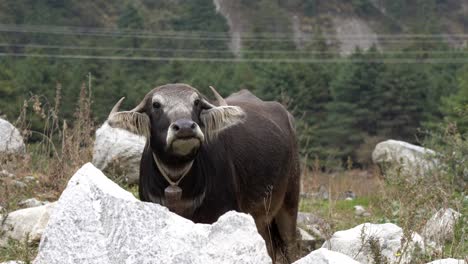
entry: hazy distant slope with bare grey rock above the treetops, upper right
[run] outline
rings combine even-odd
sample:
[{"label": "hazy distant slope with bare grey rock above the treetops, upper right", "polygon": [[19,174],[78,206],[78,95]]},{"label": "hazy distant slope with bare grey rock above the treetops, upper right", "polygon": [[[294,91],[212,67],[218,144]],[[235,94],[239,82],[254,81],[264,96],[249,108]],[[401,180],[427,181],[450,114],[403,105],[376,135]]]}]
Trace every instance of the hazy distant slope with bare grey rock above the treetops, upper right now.
[{"label": "hazy distant slope with bare grey rock above the treetops, upper right", "polygon": [[298,0],[284,4],[215,0],[214,3],[228,21],[231,47],[235,51],[240,50],[243,37],[248,38],[254,32],[289,37],[300,49],[314,38],[324,38],[344,54],[355,47],[368,49],[376,45],[384,50],[401,47],[428,34],[440,34],[438,37],[453,47],[466,45],[463,36],[453,36],[467,33],[468,3],[462,0],[410,3]]}]

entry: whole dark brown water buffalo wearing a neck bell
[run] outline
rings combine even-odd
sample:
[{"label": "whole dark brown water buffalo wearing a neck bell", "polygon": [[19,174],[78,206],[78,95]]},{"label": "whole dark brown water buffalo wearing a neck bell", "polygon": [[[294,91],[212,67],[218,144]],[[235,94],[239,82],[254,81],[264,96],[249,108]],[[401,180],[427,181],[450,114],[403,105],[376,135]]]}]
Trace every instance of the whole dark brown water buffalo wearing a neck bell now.
[{"label": "whole dark brown water buffalo wearing a neck bell", "polygon": [[210,102],[186,84],[151,90],[133,110],[112,109],[108,123],[145,135],[142,201],[197,223],[229,210],[249,213],[273,261],[291,262],[296,245],[299,159],[294,120],[277,102],[247,90]]}]

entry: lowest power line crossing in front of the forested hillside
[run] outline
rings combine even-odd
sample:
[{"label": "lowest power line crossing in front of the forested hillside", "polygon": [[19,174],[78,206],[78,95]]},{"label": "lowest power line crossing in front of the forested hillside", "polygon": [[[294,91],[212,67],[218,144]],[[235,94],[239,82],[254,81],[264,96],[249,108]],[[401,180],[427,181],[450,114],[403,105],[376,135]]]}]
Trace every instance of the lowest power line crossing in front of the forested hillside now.
[{"label": "lowest power line crossing in front of the forested hillside", "polygon": [[73,54],[39,54],[39,53],[0,53],[0,57],[35,57],[57,59],[86,59],[86,60],[124,60],[124,61],[189,61],[189,62],[222,62],[222,63],[392,63],[392,64],[466,64],[468,58],[379,58],[379,59],[343,59],[343,58],[193,58],[193,57],[148,57],[148,56],[96,56]]}]

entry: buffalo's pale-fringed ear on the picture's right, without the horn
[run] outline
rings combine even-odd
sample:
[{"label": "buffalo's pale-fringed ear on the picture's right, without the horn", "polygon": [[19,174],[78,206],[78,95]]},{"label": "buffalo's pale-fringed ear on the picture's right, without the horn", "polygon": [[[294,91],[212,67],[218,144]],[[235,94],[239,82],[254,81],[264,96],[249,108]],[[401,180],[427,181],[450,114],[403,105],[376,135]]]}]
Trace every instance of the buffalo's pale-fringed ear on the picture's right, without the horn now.
[{"label": "buffalo's pale-fringed ear on the picture's right, without the horn", "polygon": [[203,104],[204,110],[200,119],[205,126],[205,138],[214,140],[226,128],[244,122],[246,113],[239,106],[213,106],[208,102]]}]

